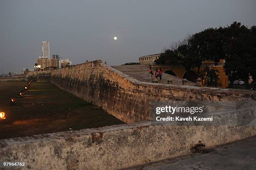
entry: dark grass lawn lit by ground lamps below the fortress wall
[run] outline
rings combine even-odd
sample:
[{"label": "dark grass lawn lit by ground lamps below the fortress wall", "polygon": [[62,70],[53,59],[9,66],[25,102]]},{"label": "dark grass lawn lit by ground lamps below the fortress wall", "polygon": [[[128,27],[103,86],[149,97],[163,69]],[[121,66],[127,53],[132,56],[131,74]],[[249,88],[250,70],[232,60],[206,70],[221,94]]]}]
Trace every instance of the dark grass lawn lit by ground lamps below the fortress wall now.
[{"label": "dark grass lawn lit by ground lamps below the fortress wall", "polygon": [[[50,82],[33,82],[23,97],[17,98],[27,83],[0,82],[0,111],[6,115],[0,122],[0,139],[124,123]],[[17,106],[10,106],[12,97]]]}]

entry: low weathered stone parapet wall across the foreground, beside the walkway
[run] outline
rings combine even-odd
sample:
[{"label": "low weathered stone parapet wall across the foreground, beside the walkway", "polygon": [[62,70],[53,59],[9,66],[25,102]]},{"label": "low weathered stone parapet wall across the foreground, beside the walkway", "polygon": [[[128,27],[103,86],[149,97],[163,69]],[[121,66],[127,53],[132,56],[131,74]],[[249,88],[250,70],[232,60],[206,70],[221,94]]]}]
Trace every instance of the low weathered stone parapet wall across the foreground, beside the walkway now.
[{"label": "low weathered stone parapet wall across the foreground, beside the walkway", "polygon": [[33,170],[114,170],[187,154],[256,135],[255,126],[172,126],[139,122],[0,140],[2,162]]}]

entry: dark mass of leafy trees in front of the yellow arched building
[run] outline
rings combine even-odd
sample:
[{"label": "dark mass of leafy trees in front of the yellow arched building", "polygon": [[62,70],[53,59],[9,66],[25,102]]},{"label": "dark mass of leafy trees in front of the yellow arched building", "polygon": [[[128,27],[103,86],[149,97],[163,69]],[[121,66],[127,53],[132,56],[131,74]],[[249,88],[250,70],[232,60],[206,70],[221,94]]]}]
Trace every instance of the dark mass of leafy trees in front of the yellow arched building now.
[{"label": "dark mass of leafy trees in front of the yellow arched building", "polygon": [[241,79],[249,89],[249,75],[256,79],[256,26],[248,29],[234,22],[227,27],[208,28],[165,48],[155,62],[181,64],[189,77],[192,68],[197,67],[197,74],[200,73],[203,61],[214,61],[218,65],[220,59],[225,59],[225,74],[231,87],[233,81]]}]

